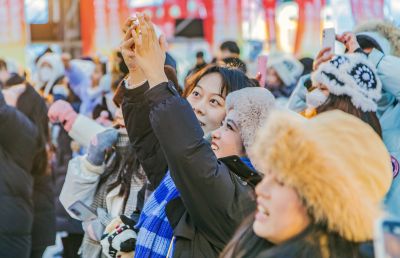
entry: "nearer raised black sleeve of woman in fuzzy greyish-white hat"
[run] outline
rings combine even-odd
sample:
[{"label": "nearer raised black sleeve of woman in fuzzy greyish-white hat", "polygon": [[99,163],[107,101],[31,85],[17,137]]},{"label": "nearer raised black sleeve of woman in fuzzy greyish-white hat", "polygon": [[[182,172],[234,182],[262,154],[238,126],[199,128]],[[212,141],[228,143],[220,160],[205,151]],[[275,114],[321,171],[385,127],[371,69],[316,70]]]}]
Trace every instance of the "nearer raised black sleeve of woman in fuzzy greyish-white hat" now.
[{"label": "nearer raised black sleeve of woman in fuzzy greyish-white hat", "polygon": [[152,88],[146,97],[152,128],[196,228],[224,238],[225,232],[232,230],[227,230],[234,224],[230,222],[238,218],[232,211],[237,190],[233,175],[217,160],[190,104],[171,82]]}]

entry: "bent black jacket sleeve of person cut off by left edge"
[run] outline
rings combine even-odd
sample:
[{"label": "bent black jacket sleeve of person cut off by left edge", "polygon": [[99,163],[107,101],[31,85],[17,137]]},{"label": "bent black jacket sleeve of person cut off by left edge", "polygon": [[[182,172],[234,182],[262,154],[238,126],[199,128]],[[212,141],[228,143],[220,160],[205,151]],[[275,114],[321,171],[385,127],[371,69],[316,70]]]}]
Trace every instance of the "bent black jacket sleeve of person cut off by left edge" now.
[{"label": "bent black jacket sleeve of person cut off by left edge", "polygon": [[0,146],[25,171],[32,169],[37,137],[36,126],[23,113],[7,105],[0,93]]}]

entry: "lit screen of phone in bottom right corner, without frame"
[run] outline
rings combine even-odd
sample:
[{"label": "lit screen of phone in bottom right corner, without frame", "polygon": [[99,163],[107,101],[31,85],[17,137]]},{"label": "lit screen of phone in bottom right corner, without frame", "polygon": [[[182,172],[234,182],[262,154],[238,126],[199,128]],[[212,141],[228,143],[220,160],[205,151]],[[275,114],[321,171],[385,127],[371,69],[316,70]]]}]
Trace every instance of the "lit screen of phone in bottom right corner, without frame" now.
[{"label": "lit screen of phone in bottom right corner, without frame", "polygon": [[384,221],[383,242],[386,258],[400,257],[400,222]]}]

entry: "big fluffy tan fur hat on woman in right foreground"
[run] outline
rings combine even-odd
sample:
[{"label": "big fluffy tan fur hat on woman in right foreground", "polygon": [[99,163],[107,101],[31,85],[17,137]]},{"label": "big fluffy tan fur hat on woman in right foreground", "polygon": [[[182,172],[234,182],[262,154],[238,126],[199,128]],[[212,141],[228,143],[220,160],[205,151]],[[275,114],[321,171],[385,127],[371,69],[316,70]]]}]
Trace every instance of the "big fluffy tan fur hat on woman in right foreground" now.
[{"label": "big fluffy tan fur hat on woman in right foreground", "polygon": [[370,126],[338,110],[310,120],[276,111],[259,131],[253,154],[263,171],[297,191],[314,223],[349,241],[372,239],[392,169]]}]

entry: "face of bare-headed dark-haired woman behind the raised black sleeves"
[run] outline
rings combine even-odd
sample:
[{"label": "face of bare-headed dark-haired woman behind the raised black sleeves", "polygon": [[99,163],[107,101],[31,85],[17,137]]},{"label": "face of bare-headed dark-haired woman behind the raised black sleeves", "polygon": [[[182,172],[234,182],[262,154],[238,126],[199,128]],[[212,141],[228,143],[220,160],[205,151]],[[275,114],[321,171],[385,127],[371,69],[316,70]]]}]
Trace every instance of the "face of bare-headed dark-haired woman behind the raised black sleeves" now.
[{"label": "face of bare-headed dark-haired woman behind the raised black sleeves", "polygon": [[204,75],[187,97],[205,134],[221,126],[225,117],[225,94],[219,73]]}]

